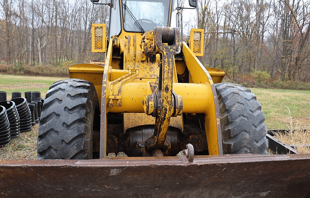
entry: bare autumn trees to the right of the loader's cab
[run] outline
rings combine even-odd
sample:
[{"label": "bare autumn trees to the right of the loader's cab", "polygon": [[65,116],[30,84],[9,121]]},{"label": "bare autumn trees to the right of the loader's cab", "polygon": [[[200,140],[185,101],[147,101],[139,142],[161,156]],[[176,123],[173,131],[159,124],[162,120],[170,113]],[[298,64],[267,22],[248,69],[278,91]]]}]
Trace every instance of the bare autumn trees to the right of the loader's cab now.
[{"label": "bare autumn trees to the right of the loader's cab", "polygon": [[310,81],[309,0],[200,0],[202,62],[238,74],[265,71],[280,80]]}]

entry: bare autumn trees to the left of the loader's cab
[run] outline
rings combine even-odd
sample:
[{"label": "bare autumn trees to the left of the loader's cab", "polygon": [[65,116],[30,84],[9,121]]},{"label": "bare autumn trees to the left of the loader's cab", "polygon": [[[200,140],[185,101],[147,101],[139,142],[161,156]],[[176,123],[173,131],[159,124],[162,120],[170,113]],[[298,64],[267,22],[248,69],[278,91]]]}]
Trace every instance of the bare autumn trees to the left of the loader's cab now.
[{"label": "bare autumn trees to the left of the loader's cab", "polygon": [[92,23],[107,22],[108,14],[108,6],[93,6],[90,0],[1,0],[0,61],[89,61]]}]

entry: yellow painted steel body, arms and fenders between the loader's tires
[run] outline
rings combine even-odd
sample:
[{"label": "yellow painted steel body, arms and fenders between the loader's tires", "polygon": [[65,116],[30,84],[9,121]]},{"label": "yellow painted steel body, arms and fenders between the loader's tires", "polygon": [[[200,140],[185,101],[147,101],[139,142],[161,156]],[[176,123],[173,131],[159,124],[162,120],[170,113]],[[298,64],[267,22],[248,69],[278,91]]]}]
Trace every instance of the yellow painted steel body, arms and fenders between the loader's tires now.
[{"label": "yellow painted steel body, arms and fenders between the loader's tires", "polygon": [[[119,35],[109,40],[109,47],[106,53],[104,66],[99,64],[77,64],[69,68],[71,78],[81,78],[93,82],[95,85],[99,102],[101,103],[101,129],[100,141],[100,158],[105,158],[107,151],[107,114],[124,113],[124,122],[135,122],[135,126],[143,125],[143,123],[151,124],[154,119],[149,119],[150,112],[155,111],[155,104],[150,100],[146,106],[145,100],[147,96],[157,93],[158,76],[160,73],[160,64],[162,64],[159,54],[154,54],[151,58],[146,52],[158,52],[154,49],[155,37],[153,31],[147,31],[143,35],[140,33],[123,32],[124,37]],[[141,42],[142,41],[142,42]],[[119,48],[122,57],[113,57],[113,48]],[[175,50],[175,49],[173,49]],[[190,48],[182,44],[183,58],[181,60],[172,59],[172,71],[170,76],[174,94],[176,94],[180,102],[182,101],[183,113],[200,113],[205,114],[205,129],[208,142],[208,150],[210,154],[222,154],[219,114],[217,107],[217,96],[214,88],[214,81],[220,82],[225,75],[223,70],[208,69],[208,72],[198,61]],[[165,58],[165,53],[162,52]],[[164,68],[168,65],[163,65]],[[121,69],[122,68],[122,69]],[[183,75],[189,72],[190,83],[178,83],[177,75]],[[168,70],[167,70],[168,71]],[[211,75],[210,75],[211,74]],[[164,77],[165,80],[165,77]],[[166,90],[161,90],[166,91]],[[172,98],[168,99],[172,101]],[[172,104],[168,103],[168,106]],[[169,107],[170,108],[170,107]],[[171,110],[170,110],[171,111]],[[128,114],[127,114],[128,113]],[[143,114],[144,121],[141,119],[132,119],[135,113]],[[142,114],[141,114],[142,115]],[[174,115],[176,116],[176,115]],[[171,112],[168,117],[171,117]],[[179,128],[183,131],[183,117],[178,116],[171,119],[168,124]],[[154,124],[154,123],[153,123]],[[164,127],[168,128],[168,125]],[[128,125],[128,124],[127,124]],[[126,126],[126,125],[124,125]],[[130,127],[129,124],[127,127]],[[161,138],[161,137],[160,137]],[[165,137],[164,137],[165,138]],[[159,139],[162,143],[164,138]]]}]

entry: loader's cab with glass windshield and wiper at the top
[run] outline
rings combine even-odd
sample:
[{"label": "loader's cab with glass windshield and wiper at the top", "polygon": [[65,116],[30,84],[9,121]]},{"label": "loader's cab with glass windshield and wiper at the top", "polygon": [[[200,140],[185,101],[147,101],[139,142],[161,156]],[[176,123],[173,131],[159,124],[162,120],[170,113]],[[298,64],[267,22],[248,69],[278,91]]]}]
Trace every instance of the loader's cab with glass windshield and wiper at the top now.
[{"label": "loader's cab with glass windshield and wiper at the top", "polygon": [[[99,0],[91,0],[94,4]],[[173,10],[181,9],[174,0],[111,0],[109,37],[128,32],[141,33],[154,30],[155,27],[170,27]],[[189,0],[191,7],[196,7],[196,0]],[[182,8],[184,9],[184,8]],[[180,12],[177,12],[179,15]],[[177,23],[179,24],[179,23]]]}]

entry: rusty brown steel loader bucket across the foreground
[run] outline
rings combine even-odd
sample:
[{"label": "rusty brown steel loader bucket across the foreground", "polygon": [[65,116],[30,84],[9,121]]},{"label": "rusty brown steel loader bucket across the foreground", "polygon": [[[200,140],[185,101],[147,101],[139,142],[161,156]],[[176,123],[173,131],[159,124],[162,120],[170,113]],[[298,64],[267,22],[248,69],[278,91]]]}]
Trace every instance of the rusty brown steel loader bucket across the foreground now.
[{"label": "rusty brown steel loader bucket across the foreground", "polygon": [[1,160],[1,197],[310,197],[310,154]]}]

